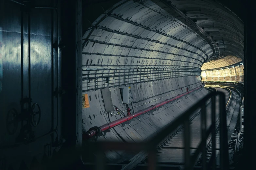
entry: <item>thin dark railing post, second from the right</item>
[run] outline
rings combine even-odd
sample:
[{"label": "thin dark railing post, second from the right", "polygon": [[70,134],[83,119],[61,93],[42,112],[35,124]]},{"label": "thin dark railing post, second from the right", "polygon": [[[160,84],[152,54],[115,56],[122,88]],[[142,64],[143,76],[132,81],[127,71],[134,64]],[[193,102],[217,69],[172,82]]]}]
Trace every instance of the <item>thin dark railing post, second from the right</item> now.
[{"label": "thin dark railing post, second from the right", "polygon": [[216,169],[216,136],[215,136],[215,95],[212,96],[212,168]]}]

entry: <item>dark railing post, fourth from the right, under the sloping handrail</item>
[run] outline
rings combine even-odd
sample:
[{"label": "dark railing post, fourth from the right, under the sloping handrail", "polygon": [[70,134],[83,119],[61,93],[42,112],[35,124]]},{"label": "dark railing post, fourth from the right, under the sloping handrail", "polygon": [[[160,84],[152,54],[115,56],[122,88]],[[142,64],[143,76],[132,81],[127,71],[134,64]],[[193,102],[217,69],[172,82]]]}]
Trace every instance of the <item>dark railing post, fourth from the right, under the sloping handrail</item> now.
[{"label": "dark railing post, fourth from the right, under the sloping handrail", "polygon": [[189,117],[186,117],[184,120],[184,157],[185,157],[185,169],[188,170],[190,168],[190,130],[189,130]]}]

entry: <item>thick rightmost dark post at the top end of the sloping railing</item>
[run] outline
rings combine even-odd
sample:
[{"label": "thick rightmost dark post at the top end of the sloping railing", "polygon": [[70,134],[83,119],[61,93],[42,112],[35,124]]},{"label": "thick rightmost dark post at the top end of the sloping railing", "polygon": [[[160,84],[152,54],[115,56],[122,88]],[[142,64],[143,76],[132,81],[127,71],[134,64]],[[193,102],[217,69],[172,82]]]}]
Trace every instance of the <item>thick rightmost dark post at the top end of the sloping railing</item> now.
[{"label": "thick rightmost dark post at the top end of the sloping railing", "polygon": [[220,94],[220,168],[229,169],[228,134],[226,121],[225,95]]}]

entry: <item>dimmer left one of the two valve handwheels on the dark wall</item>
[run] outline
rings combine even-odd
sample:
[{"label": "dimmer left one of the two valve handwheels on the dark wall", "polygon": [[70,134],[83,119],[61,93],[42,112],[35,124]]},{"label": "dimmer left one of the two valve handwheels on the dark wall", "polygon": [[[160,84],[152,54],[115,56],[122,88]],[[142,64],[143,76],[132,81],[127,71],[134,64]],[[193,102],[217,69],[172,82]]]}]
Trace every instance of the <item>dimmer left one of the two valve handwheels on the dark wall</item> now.
[{"label": "dimmer left one of the two valve handwheels on the dark wall", "polygon": [[18,128],[18,121],[17,121],[17,110],[12,108],[9,110],[6,118],[6,128],[9,133],[9,135],[15,134],[17,128]]}]

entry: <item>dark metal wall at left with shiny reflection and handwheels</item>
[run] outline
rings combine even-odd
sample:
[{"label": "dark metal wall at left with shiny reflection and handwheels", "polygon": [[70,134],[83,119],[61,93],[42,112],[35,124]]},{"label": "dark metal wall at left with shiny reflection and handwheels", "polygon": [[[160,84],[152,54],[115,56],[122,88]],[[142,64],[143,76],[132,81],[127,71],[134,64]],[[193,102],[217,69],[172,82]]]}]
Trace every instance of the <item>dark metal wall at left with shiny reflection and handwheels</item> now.
[{"label": "dark metal wall at left with shiny reflection and handwheels", "polygon": [[[22,1],[20,1],[22,2]],[[26,2],[24,2],[26,3]],[[51,157],[60,139],[60,55],[56,1],[0,1],[0,169],[26,169]],[[32,100],[32,101],[31,101]],[[34,124],[27,121],[34,111]],[[29,112],[30,111],[30,112]]]}]

